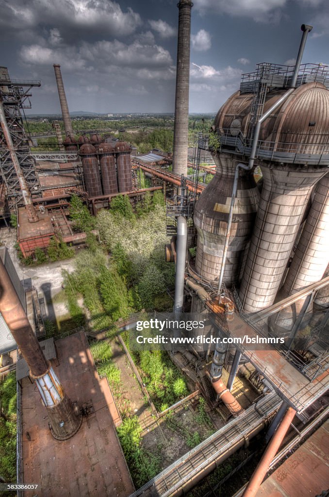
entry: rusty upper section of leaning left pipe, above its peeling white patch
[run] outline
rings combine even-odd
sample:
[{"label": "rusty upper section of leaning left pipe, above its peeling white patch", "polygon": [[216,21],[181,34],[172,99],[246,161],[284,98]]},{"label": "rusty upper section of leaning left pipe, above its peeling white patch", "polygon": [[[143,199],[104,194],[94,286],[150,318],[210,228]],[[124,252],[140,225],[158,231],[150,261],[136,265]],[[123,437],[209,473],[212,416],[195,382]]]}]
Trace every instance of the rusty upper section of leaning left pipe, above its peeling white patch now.
[{"label": "rusty upper section of leaning left pipe, above its peeling white patch", "polygon": [[0,313],[31,373],[36,377],[45,374],[48,370],[47,361],[1,259]]}]

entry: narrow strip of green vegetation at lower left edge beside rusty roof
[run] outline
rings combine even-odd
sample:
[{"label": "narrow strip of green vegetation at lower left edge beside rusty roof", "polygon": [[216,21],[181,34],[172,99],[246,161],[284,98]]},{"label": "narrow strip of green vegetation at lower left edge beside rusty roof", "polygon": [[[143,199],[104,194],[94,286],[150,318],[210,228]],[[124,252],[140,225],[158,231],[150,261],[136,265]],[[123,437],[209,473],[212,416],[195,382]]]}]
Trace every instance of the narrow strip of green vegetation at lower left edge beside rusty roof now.
[{"label": "narrow strip of green vegetation at lower left edge beside rusty roof", "polygon": [[16,482],[16,377],[9,373],[0,381],[0,475]]}]

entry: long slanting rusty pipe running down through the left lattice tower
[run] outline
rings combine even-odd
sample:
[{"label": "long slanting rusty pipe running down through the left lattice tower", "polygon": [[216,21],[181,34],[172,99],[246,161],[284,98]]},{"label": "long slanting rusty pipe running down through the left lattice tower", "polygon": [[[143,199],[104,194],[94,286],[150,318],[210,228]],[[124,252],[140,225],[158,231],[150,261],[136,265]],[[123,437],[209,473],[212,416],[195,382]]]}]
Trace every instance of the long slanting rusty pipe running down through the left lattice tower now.
[{"label": "long slanting rusty pipe running down through the left lattice tower", "polygon": [[18,158],[17,158],[16,152],[14,149],[14,144],[12,142],[10,131],[8,128],[8,124],[7,124],[7,121],[5,118],[3,102],[1,99],[0,99],[0,124],[1,124],[4,139],[6,141],[7,148],[9,150],[11,162],[12,162],[12,165],[14,166],[15,173],[16,173],[16,176],[17,176],[17,179],[19,182],[19,186],[20,186],[20,189],[22,192],[23,201],[24,201],[24,205],[26,208],[26,212],[27,212],[27,220],[29,223],[36,223],[37,221],[39,221],[39,218],[38,218],[37,212],[32,204],[31,194],[30,194],[30,191],[28,189],[27,183],[25,181],[25,177],[23,175],[20,164],[18,162]]}]

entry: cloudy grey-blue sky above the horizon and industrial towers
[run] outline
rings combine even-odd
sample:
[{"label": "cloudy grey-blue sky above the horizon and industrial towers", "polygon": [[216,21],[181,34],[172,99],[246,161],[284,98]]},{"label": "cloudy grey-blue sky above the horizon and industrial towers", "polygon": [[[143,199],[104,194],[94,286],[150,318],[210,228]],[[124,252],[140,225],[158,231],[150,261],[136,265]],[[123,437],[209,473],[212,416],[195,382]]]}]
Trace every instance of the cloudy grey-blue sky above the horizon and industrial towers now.
[{"label": "cloudy grey-blue sky above the horizon and industrial towers", "polygon": [[[40,79],[32,113],[173,112],[178,0],[0,0],[0,65]],[[194,0],[190,112],[216,112],[258,62],[329,63],[328,0]]]}]

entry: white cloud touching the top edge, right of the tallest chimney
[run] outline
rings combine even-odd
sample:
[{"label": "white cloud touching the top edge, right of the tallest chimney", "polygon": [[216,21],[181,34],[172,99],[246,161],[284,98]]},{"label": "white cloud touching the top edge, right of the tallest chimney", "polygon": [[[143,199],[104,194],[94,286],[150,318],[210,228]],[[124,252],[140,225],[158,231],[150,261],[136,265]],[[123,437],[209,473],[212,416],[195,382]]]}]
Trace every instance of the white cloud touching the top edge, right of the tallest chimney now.
[{"label": "white cloud touching the top edge, right of the tallest chimney", "polygon": [[277,21],[287,0],[195,0],[195,8],[201,13],[217,12],[242,17],[251,17],[255,21]]}]

